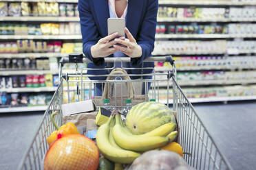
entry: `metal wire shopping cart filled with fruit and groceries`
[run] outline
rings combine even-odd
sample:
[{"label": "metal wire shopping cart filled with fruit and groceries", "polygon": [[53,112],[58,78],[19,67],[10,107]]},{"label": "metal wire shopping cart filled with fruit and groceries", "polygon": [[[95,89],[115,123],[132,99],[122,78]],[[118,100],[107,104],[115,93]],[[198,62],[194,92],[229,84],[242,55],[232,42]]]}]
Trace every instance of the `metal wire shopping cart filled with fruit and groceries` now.
[{"label": "metal wire shopping cart filled with fruit and groceries", "polygon": [[[176,118],[179,126],[178,141],[183,148],[184,159],[195,169],[232,169],[226,158],[218,149],[213,141],[212,136],[206,130],[204,123],[198,117],[193,106],[186,98],[182,89],[176,82],[176,68],[174,60],[171,56],[167,57],[150,57],[144,62],[169,62],[172,69],[168,71],[156,71],[158,67],[154,68],[153,73],[142,75],[129,76],[151,76],[149,79],[134,79],[134,80],[89,80],[88,77],[97,75],[87,75],[89,69],[78,69],[78,63],[89,63],[87,58],[83,55],[72,54],[69,58],[62,58],[59,66],[60,82],[50,105],[47,107],[43,119],[41,120],[36,134],[30,144],[30,147],[25,152],[19,169],[43,169],[43,159],[49,146],[47,145],[47,136],[49,136],[55,129],[50,121],[50,114],[55,110],[59,110],[55,119],[58,125],[62,124],[61,105],[63,103],[70,103],[74,101],[83,101],[85,99],[92,99],[96,91],[94,84],[111,83],[113,90],[116,92],[116,84],[124,84],[125,82],[132,82],[144,84],[145,87],[151,83],[151,88],[145,90],[145,101],[149,99],[156,99],[156,101],[163,102],[167,106],[171,106],[176,111]],[[120,62],[121,66],[125,62],[130,62],[129,58],[105,58],[106,63]],[[76,71],[74,73],[65,73],[63,66],[66,63],[74,63]],[[107,68],[105,68],[107,69]],[[111,70],[113,68],[110,68]],[[124,68],[126,69],[126,68]],[[131,68],[136,69],[136,68]],[[145,68],[153,69],[153,68]],[[97,71],[100,69],[97,69]],[[101,75],[103,76],[103,75]],[[104,75],[107,77],[107,75]],[[116,75],[118,77],[118,75]],[[71,86],[72,85],[72,86]],[[162,88],[164,87],[164,88]],[[125,88],[124,88],[125,89]],[[122,90],[121,90],[122,91]],[[74,94],[75,92],[75,94]],[[73,93],[73,94],[72,94]],[[63,97],[64,96],[64,97]],[[116,103],[115,103],[116,104]],[[115,105],[114,104],[114,105]],[[116,105],[117,106],[117,105]],[[117,107],[122,107],[118,105]]]}]

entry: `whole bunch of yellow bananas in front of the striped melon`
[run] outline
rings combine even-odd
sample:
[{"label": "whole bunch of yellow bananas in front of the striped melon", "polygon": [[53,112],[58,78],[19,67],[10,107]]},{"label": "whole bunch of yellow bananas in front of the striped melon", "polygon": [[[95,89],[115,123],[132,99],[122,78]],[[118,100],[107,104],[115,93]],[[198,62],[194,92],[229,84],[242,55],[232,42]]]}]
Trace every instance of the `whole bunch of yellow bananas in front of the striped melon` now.
[{"label": "whole bunch of yellow bananas in front of the striped melon", "polygon": [[111,116],[98,128],[96,143],[100,152],[109,160],[128,164],[140,153],[160,148],[172,142],[178,135],[175,123],[166,123],[146,134],[135,135],[122,122],[120,114]]}]

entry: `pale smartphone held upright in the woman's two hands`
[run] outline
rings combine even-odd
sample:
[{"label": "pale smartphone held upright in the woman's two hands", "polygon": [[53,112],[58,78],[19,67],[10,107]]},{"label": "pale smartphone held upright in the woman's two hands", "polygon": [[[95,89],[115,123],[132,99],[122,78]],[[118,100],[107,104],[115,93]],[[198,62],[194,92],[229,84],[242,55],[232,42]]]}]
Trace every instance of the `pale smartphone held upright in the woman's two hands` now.
[{"label": "pale smartphone held upright in the woman's two hands", "polygon": [[125,36],[125,19],[109,18],[107,19],[108,35],[118,32],[118,37]]}]

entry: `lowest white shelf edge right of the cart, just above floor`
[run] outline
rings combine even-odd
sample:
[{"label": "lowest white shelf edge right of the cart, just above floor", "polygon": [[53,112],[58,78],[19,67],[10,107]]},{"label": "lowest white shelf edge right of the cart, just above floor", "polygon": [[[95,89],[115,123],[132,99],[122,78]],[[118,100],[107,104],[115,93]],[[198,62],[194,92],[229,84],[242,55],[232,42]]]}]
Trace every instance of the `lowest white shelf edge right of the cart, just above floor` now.
[{"label": "lowest white shelf edge right of the cart, just above floor", "polygon": [[[191,103],[206,103],[218,101],[244,101],[256,100],[256,96],[238,96],[238,97],[208,97],[208,98],[189,98]],[[167,100],[159,100],[162,104],[167,104]],[[169,104],[173,104],[173,99],[169,99]]]}]

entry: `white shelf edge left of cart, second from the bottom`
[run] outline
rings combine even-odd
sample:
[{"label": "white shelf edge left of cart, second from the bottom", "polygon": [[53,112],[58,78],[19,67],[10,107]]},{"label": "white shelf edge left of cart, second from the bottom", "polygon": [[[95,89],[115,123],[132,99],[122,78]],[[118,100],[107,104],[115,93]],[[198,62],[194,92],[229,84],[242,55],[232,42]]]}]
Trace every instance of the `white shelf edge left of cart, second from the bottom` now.
[{"label": "white shelf edge left of cart, second from the bottom", "polygon": [[39,87],[39,88],[1,88],[0,91],[6,93],[25,93],[25,92],[51,92],[55,91],[56,87]]}]

